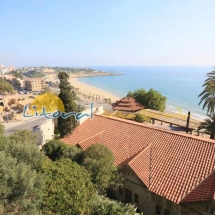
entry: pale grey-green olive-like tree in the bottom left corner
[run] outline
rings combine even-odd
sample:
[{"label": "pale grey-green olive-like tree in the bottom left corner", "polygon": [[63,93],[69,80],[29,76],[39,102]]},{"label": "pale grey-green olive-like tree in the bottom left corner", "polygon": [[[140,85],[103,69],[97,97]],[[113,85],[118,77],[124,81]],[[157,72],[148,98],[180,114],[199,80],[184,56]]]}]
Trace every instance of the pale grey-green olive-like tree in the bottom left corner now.
[{"label": "pale grey-green olive-like tree in the bottom left corner", "polygon": [[0,214],[41,214],[44,158],[36,145],[0,135]]}]

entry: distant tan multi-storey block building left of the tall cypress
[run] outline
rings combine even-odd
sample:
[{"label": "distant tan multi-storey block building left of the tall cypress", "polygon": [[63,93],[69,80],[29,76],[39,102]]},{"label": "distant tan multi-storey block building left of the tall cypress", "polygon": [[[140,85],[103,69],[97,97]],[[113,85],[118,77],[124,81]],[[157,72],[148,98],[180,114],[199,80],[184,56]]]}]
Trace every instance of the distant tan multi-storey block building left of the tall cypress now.
[{"label": "distant tan multi-storey block building left of the tall cypress", "polygon": [[41,78],[27,78],[24,81],[27,91],[41,91],[45,87],[45,81]]}]

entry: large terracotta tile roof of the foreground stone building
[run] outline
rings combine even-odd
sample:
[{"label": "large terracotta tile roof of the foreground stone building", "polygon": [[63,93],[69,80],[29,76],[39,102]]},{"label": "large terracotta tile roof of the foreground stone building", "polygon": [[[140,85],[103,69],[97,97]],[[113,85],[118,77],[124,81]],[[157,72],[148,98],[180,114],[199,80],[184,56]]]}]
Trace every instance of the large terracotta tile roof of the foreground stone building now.
[{"label": "large terracotta tile roof of the foreground stone building", "polygon": [[127,164],[150,191],[175,203],[214,197],[214,140],[94,115],[62,141],[83,149],[100,141],[116,165]]}]

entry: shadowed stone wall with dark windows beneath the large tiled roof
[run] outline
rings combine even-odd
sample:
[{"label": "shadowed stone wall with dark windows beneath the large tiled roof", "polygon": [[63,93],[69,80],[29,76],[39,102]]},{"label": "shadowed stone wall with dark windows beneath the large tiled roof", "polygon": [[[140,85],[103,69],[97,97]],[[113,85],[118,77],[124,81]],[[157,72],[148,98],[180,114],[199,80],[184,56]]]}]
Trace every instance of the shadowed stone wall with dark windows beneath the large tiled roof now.
[{"label": "shadowed stone wall with dark windows beneath the large tiled roof", "polygon": [[115,192],[116,198],[126,203],[126,193],[131,191],[131,203],[144,215],[215,215],[212,202],[178,205],[148,191],[144,183],[129,167],[123,168],[122,173],[125,179],[123,189]]}]

